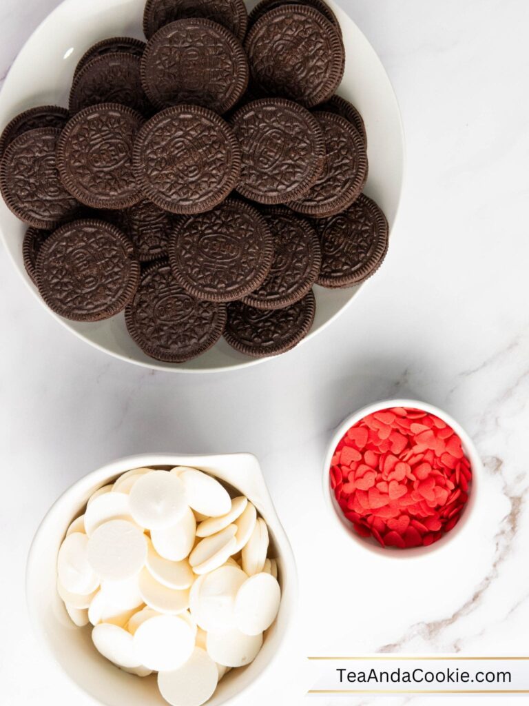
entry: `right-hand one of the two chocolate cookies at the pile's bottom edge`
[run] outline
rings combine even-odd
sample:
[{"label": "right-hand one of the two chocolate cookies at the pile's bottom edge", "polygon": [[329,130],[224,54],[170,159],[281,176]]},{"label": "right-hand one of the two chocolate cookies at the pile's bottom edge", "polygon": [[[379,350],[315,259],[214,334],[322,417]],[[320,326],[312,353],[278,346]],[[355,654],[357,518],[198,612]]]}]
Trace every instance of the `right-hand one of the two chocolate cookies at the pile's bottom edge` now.
[{"label": "right-hand one of the two chocolate cookies at the pile's bottom edge", "polygon": [[255,358],[279,355],[298,345],[310,331],[316,313],[314,294],[309,292],[286,309],[262,311],[234,301],[228,304],[226,342]]}]

